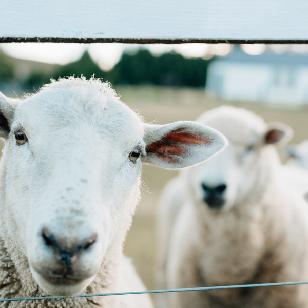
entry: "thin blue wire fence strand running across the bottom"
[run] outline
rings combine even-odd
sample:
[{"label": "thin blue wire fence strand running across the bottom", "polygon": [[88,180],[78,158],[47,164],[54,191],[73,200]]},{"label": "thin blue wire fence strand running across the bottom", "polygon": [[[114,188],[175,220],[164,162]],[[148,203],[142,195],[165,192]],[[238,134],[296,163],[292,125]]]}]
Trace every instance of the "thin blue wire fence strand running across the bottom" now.
[{"label": "thin blue wire fence strand running across the bottom", "polygon": [[4,298],[4,299],[0,299],[0,302],[25,301],[25,300],[43,300],[43,299],[60,299],[60,298],[75,298],[75,297],[95,297],[95,296],[114,296],[114,295],[132,295],[132,294],[207,291],[207,290],[222,290],[222,289],[244,288],[244,287],[282,286],[282,285],[298,285],[298,284],[308,284],[308,281],[187,287],[187,288],[177,288],[177,289],[149,290],[149,291],[136,291],[136,292],[80,294],[80,295],[74,295],[74,296],[40,296],[40,297],[23,297],[23,298]]}]

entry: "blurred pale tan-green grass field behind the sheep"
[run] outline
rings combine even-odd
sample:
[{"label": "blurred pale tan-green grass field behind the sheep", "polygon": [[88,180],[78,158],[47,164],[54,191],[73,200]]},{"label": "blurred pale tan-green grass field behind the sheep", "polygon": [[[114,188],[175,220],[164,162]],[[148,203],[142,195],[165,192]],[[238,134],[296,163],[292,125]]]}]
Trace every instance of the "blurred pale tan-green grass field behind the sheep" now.
[{"label": "blurred pale tan-green grass field behind the sheep", "polygon": [[[119,87],[121,100],[132,109],[140,111],[145,121],[165,124],[178,120],[195,120],[204,111],[226,102],[207,97],[204,90],[159,87]],[[228,103],[230,104],[230,103]],[[257,103],[233,102],[233,106],[243,107],[261,115],[265,121],[284,122],[295,131],[293,142],[308,138],[308,108],[295,109]],[[156,210],[161,189],[177,174],[176,171],[144,166],[143,181],[147,191],[143,191],[141,202],[128,233],[124,252],[131,256],[140,276],[148,289],[156,288],[153,281],[156,255]]]}]

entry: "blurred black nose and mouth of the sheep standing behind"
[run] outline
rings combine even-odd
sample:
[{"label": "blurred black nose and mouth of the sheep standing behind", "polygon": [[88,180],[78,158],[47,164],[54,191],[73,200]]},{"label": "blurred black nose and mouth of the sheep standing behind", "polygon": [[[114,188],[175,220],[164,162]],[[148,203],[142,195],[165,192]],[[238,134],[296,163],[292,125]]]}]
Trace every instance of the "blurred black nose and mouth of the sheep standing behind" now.
[{"label": "blurred black nose and mouth of the sheep standing behind", "polygon": [[222,183],[217,186],[209,186],[205,183],[201,184],[203,189],[203,200],[211,208],[221,208],[224,203],[224,192],[227,185]]}]

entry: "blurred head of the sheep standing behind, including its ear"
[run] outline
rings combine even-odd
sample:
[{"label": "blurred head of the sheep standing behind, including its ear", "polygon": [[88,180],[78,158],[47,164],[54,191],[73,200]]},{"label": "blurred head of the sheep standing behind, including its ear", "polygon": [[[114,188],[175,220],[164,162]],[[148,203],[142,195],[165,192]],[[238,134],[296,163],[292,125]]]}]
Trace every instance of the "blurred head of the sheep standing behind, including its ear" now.
[{"label": "blurred head of the sheep standing behind, including its ear", "polygon": [[273,144],[290,140],[292,130],[281,123],[266,125],[247,110],[220,107],[197,121],[215,127],[229,145],[210,161],[186,172],[194,203],[217,211],[229,210],[258,193],[278,158]]}]

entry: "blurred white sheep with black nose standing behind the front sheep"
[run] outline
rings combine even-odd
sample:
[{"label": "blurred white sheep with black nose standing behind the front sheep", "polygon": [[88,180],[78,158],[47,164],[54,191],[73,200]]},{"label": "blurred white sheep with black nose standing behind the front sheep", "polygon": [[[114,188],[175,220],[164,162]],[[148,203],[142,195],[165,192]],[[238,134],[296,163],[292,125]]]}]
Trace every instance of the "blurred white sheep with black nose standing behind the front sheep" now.
[{"label": "blurred white sheep with black nose standing behind the front sheep", "polygon": [[[280,176],[273,146],[287,142],[291,128],[267,125],[248,110],[228,106],[205,112],[197,121],[222,132],[229,146],[208,162],[183,170],[162,194],[162,287],[307,280],[308,207]],[[176,218],[170,219],[174,213]],[[302,308],[308,307],[307,290],[177,292],[167,295],[167,307]]]}]

